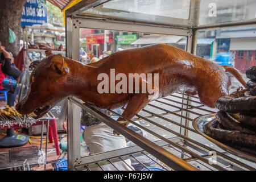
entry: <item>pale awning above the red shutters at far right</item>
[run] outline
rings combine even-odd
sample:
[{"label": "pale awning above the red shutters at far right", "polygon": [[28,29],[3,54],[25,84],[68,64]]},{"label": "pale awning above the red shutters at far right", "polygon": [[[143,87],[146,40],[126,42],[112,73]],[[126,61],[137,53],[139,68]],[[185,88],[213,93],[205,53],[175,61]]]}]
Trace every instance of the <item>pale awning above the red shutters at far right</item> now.
[{"label": "pale awning above the red shutters at far right", "polygon": [[254,51],[256,50],[256,38],[232,38],[230,39],[231,51],[244,50],[244,51]]}]

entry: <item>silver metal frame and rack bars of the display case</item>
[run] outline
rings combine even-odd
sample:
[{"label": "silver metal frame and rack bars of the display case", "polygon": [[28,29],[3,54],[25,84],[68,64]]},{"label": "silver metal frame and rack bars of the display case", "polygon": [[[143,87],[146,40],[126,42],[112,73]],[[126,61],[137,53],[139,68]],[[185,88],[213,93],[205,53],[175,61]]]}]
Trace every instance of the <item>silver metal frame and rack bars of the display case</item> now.
[{"label": "silver metal frame and rack bars of the display case", "polygon": [[[191,6],[189,11],[189,19],[183,20],[178,18],[171,18],[172,24],[154,24],[138,21],[129,21],[123,19],[117,19],[113,17],[100,17],[100,16],[85,16],[82,11],[102,5],[102,3],[108,2],[106,0],[92,0],[81,1],[77,5],[71,7],[66,11],[66,55],[72,59],[79,60],[79,31],[80,28],[94,28],[101,30],[116,30],[127,32],[147,32],[152,34],[165,34],[165,35],[179,35],[187,37],[186,51],[196,52],[196,35],[198,30],[212,30],[220,27],[232,27],[232,26],[246,26],[250,24],[256,24],[256,19],[244,22],[222,23],[222,24],[210,24],[207,26],[197,27],[196,24],[199,20],[199,11],[196,11],[200,7],[200,0],[191,0]],[[177,101],[180,100],[180,101]],[[189,137],[190,133],[196,133],[193,129],[191,122],[195,115],[200,116],[203,114],[214,113],[213,110],[205,109],[204,105],[201,105],[197,97],[187,96],[183,93],[175,93],[166,98],[153,101],[154,103],[160,103],[163,107],[159,107],[155,104],[148,104],[148,106],[155,107],[162,110],[163,113],[152,113],[145,108],[142,110],[148,114],[147,117],[143,117],[137,114],[137,119],[143,119],[143,121],[150,122],[151,124],[162,128],[172,134],[175,137],[164,138],[154,131],[147,129],[134,122],[136,119],[129,120],[130,123],[140,127],[148,133],[155,135],[160,140],[158,142],[151,142],[150,140],[142,137],[134,131],[127,129],[120,123],[117,123],[112,118],[108,117],[95,109],[94,107],[77,100],[76,98],[68,98],[68,168],[69,170],[90,170],[92,167],[100,167],[104,164],[112,164],[114,162],[124,161],[126,158],[133,158],[137,162],[141,163],[134,155],[146,155],[153,161],[159,163],[159,160],[166,164],[168,169],[174,170],[196,170],[194,163],[204,169],[210,170],[255,170],[254,163],[247,163],[245,160],[237,159],[236,156],[230,155],[226,151],[220,151],[209,147],[200,141],[194,140]],[[101,154],[94,154],[85,157],[80,155],[80,109],[85,109],[95,117],[101,119],[106,125],[112,127],[115,131],[122,134],[127,139],[131,140],[137,146],[127,147],[125,149],[104,152]],[[171,107],[172,109],[165,109]],[[174,110],[174,111],[172,111]],[[195,111],[196,110],[196,111]],[[113,112],[113,111],[112,111]],[[114,112],[113,112],[114,113]],[[118,115],[117,113],[114,113]],[[171,114],[179,117],[180,122],[167,119],[164,115]],[[194,115],[194,117],[193,117]],[[121,115],[119,115],[122,117]],[[176,126],[180,127],[180,131],[174,131],[162,126],[151,118],[164,119]],[[170,151],[171,150],[171,151]],[[217,164],[209,163],[209,154],[216,154]],[[148,154],[153,155],[155,159],[152,159]],[[192,165],[193,163],[193,165]],[[128,165],[128,164],[127,164]],[[159,163],[162,165],[162,163]],[[118,169],[117,167],[115,167]],[[145,168],[147,168],[145,166]],[[165,169],[167,169],[165,168]],[[148,168],[147,168],[148,169]]]}]

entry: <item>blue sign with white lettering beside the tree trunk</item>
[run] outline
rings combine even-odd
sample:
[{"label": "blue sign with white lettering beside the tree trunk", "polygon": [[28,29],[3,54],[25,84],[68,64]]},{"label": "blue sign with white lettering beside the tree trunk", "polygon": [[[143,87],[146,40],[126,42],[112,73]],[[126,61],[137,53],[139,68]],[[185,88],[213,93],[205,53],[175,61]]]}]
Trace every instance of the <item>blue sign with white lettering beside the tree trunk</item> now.
[{"label": "blue sign with white lettering beside the tree trunk", "polygon": [[22,11],[22,28],[47,23],[46,0],[27,0]]}]

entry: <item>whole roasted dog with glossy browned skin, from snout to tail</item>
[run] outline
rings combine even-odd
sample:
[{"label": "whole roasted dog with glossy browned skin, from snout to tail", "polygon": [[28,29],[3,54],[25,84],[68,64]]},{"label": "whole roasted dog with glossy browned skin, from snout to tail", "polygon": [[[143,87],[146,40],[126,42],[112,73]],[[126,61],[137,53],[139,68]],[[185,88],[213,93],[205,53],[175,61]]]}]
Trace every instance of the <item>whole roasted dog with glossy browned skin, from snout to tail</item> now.
[{"label": "whole roasted dog with glossy browned skin, from snout to tail", "polygon": [[[58,101],[75,96],[101,109],[115,109],[127,104],[123,116],[131,119],[148,104],[149,94],[98,93],[97,85],[102,80],[97,80],[97,76],[106,73],[110,77],[110,69],[115,69],[115,75],[124,73],[127,78],[129,73],[158,73],[159,86],[152,85],[159,90],[155,99],[179,90],[187,94],[197,93],[200,101],[209,107],[215,107],[218,98],[229,93],[231,82],[226,71],[236,75],[243,86],[246,84],[236,69],[224,68],[166,44],[115,52],[86,65],[67,57],[49,55],[31,73],[29,93],[16,109],[22,114],[31,113],[43,105],[51,109]],[[39,112],[37,118],[45,111]]]}]

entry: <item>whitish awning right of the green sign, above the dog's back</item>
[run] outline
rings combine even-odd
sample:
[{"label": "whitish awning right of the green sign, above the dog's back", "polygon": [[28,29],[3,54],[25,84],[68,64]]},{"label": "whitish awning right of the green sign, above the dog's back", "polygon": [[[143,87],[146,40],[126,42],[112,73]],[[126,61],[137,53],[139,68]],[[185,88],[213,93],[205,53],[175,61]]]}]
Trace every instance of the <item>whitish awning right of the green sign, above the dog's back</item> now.
[{"label": "whitish awning right of the green sign, above the dog's back", "polygon": [[183,39],[183,36],[144,36],[142,38],[139,38],[138,40],[135,40],[131,44],[173,44],[179,42],[181,39]]}]

